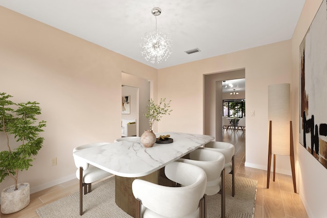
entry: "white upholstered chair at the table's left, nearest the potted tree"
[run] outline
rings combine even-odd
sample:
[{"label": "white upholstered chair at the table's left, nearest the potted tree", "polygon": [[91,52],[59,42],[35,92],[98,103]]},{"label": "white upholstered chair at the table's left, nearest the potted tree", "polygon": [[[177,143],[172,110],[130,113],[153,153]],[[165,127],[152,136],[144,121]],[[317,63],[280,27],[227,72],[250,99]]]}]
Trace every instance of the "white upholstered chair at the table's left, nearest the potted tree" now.
[{"label": "white upholstered chair at the table's left, nearest the potted tree", "polygon": [[[108,144],[108,142],[84,144],[83,146],[74,148],[73,153],[82,149],[101,146],[103,144]],[[83,214],[83,187],[84,187],[84,195],[86,195],[88,192],[92,191],[91,183],[104,179],[112,174],[103,171],[102,169],[95,167],[91,164],[88,164],[82,159],[75,156],[74,156],[74,161],[76,167],[78,168],[76,171],[76,177],[80,180],[80,215],[82,215]],[[83,171],[80,171],[81,167],[83,168]]]}]

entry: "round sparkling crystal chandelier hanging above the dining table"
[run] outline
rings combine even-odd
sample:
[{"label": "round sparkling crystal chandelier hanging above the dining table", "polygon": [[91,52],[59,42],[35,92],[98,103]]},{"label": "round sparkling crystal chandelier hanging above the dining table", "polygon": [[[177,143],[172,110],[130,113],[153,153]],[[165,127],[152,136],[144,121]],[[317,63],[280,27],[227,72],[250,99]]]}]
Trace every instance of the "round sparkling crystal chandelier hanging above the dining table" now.
[{"label": "round sparkling crystal chandelier hanging above the dining table", "polygon": [[162,60],[166,61],[172,54],[170,51],[171,39],[166,34],[157,32],[157,16],[161,14],[161,9],[152,8],[151,13],[155,16],[155,31],[142,38],[143,43],[140,45],[144,51],[141,54],[151,63],[155,61],[160,63]]}]

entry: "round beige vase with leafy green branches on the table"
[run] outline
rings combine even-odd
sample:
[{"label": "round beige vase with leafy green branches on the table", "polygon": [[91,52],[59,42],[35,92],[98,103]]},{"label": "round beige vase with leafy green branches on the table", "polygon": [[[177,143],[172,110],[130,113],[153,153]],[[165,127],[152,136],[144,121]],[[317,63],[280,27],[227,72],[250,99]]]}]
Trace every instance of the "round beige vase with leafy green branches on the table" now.
[{"label": "round beige vase with leafy green branches on the table", "polygon": [[145,130],[141,135],[141,142],[147,148],[152,147],[156,141],[156,136],[153,133],[153,124],[155,121],[160,121],[162,115],[170,114],[173,110],[170,109],[170,102],[166,102],[165,99],[160,99],[159,104],[155,104],[152,99],[148,100],[147,113],[145,117],[149,119],[149,130]]}]

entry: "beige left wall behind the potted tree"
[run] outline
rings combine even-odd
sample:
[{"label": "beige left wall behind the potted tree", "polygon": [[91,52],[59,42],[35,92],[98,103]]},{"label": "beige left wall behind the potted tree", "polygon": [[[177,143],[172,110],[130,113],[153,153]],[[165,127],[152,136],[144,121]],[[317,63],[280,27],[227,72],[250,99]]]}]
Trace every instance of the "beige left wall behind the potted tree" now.
[{"label": "beige left wall behind the potted tree", "polygon": [[[3,7],[0,27],[0,91],[39,102],[48,122],[43,148],[19,176],[31,192],[75,178],[74,147],[121,137],[122,71],[152,81],[157,94],[152,67]],[[11,184],[7,177],[0,189]]]}]

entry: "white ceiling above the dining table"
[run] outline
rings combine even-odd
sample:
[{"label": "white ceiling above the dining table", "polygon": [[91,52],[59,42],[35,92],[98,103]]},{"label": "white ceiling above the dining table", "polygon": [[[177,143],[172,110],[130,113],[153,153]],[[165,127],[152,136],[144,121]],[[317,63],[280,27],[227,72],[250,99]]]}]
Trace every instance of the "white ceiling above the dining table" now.
[{"label": "white ceiling above the dining table", "polygon": [[[160,69],[291,39],[305,0],[0,0],[0,6]],[[155,30],[172,55],[152,64],[139,44]],[[188,55],[185,51],[201,52]]]}]

